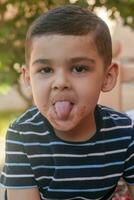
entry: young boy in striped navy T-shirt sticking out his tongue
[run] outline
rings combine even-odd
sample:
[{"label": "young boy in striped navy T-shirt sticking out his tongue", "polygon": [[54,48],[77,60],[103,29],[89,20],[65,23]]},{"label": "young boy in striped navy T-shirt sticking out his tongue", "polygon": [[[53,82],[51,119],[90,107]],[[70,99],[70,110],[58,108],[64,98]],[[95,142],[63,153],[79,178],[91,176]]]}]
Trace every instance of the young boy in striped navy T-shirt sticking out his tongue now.
[{"label": "young boy in striped navy T-shirt sticking out his tongue", "polygon": [[26,38],[23,76],[35,107],[8,129],[1,183],[9,200],[111,199],[120,177],[134,198],[134,129],[97,105],[116,84],[107,25],[69,5],[43,14]]}]

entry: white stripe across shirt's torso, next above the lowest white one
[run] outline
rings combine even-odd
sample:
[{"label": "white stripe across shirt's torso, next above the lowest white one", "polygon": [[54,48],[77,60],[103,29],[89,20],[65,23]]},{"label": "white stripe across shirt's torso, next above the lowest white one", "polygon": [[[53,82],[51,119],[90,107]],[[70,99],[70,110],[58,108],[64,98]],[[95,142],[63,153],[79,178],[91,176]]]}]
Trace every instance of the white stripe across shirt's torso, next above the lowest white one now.
[{"label": "white stripe across shirt's torso, next above the lowest white one", "polygon": [[104,155],[109,155],[109,154],[116,154],[116,153],[121,153],[125,152],[127,149],[121,149],[121,150],[115,150],[115,151],[107,151],[103,153],[89,153],[89,154],[82,154],[82,155],[77,155],[77,154],[34,154],[34,155],[28,155],[29,158],[40,158],[40,157],[76,157],[76,158],[81,158],[81,157],[90,157],[90,156],[104,156]]}]

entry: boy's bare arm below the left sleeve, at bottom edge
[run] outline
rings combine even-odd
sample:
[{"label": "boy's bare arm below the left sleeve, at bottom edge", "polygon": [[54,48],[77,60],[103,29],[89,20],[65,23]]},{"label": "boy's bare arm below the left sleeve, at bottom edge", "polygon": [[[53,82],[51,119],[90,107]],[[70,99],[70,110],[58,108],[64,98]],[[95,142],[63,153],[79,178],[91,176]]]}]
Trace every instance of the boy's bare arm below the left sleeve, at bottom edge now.
[{"label": "boy's bare arm below the left sleeve, at bottom edge", "polygon": [[38,188],[7,189],[8,200],[40,200]]}]

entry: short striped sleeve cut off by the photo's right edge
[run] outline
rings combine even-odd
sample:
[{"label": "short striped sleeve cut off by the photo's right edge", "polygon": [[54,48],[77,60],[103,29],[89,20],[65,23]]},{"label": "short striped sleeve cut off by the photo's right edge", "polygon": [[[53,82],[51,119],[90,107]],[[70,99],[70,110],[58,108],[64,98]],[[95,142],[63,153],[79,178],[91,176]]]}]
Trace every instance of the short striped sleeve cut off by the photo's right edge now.
[{"label": "short striped sleeve cut off by the photo's right edge", "polygon": [[134,128],[132,140],[127,150],[123,178],[128,185],[134,185]]}]

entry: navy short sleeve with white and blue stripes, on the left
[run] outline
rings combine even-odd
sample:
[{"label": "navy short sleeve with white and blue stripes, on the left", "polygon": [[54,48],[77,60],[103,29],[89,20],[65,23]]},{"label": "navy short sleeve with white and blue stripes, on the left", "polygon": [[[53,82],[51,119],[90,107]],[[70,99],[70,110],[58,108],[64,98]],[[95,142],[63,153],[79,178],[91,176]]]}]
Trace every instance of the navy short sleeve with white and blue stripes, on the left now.
[{"label": "navy short sleeve with white and blue stripes, on the left", "polygon": [[0,177],[1,185],[5,188],[37,187],[22,137],[15,125],[9,127],[6,136],[5,165]]}]

